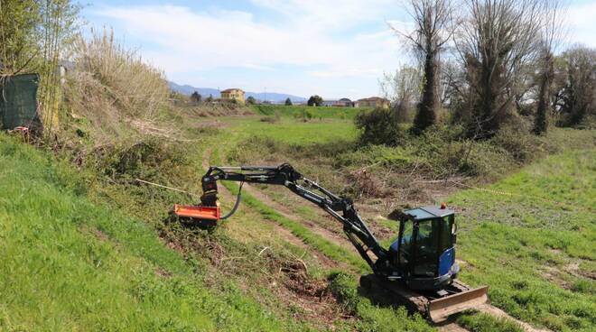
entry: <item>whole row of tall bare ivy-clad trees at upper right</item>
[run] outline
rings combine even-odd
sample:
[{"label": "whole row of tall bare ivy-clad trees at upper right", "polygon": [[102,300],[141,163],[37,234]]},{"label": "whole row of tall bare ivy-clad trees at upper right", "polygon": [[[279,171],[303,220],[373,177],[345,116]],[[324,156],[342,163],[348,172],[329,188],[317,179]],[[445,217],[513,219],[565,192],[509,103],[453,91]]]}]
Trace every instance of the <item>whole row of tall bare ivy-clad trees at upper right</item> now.
[{"label": "whole row of tall bare ivy-clad trees at upper right", "polygon": [[[596,115],[596,50],[565,41],[558,0],[417,0],[414,29],[393,28],[414,55],[381,80],[393,121],[423,134],[444,114],[474,139],[520,117],[534,134]],[[408,114],[414,109],[414,118]],[[383,118],[383,116],[376,116]],[[361,119],[362,120],[362,119]]]}]

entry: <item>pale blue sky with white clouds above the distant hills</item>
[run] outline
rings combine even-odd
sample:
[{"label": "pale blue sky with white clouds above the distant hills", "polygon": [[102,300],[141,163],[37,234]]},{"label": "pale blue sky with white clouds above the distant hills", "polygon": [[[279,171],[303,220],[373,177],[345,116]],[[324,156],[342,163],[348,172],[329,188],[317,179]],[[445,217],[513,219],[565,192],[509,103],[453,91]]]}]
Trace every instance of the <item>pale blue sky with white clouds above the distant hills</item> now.
[{"label": "pale blue sky with white clouds above the distant hills", "polygon": [[[568,42],[596,47],[596,0],[568,3]],[[390,28],[412,26],[400,0],[99,0],[82,14],[197,88],[371,97],[384,72],[411,61]]]}]

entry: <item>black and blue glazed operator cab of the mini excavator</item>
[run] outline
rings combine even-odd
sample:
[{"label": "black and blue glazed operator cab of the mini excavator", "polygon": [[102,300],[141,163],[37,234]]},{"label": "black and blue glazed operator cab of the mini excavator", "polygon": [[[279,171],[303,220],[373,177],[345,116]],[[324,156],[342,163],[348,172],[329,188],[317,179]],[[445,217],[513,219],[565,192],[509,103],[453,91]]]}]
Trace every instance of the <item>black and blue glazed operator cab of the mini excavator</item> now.
[{"label": "black and blue glazed operator cab of the mini excavator", "polygon": [[451,209],[437,207],[404,211],[399,236],[389,252],[402,277],[416,290],[433,290],[451,283],[455,263],[456,225]]}]

